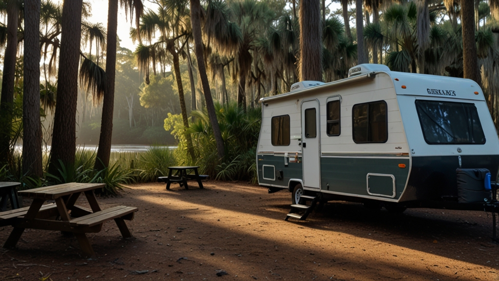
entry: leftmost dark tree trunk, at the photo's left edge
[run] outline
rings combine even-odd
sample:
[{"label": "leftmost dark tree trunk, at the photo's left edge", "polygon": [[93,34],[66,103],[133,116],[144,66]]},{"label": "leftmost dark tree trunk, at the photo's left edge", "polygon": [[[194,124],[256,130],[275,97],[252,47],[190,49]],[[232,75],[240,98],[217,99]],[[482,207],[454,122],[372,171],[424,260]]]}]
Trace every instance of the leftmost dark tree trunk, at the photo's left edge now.
[{"label": "leftmost dark tree trunk, at the photo's left edge", "polygon": [[7,46],[3,56],[3,78],[0,97],[0,163],[7,163],[10,158],[10,129],[12,127],[12,109],[14,106],[14,74],[17,54],[17,19],[19,3],[9,0],[7,3]]}]

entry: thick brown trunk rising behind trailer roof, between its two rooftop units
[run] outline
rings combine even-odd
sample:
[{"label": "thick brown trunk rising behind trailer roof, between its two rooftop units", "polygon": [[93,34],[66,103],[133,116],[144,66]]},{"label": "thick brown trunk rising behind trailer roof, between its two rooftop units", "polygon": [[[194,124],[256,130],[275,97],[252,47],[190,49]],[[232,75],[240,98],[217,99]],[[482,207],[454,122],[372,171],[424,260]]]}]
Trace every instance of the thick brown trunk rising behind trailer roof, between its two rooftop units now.
[{"label": "thick brown trunk rising behind trailer roof, between its two rooftop units", "polygon": [[319,0],[302,0],[300,20],[300,80],[322,81],[322,24]]}]

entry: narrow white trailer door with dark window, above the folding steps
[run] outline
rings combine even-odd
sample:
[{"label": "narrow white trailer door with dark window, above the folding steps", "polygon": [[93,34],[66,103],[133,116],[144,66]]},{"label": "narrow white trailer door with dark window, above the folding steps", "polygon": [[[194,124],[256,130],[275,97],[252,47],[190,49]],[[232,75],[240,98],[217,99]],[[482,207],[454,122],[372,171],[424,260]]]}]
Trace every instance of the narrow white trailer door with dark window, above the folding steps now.
[{"label": "narrow white trailer door with dark window, above the folding steps", "polygon": [[301,104],[303,187],[320,188],[320,125],[317,99]]}]

